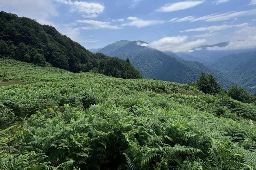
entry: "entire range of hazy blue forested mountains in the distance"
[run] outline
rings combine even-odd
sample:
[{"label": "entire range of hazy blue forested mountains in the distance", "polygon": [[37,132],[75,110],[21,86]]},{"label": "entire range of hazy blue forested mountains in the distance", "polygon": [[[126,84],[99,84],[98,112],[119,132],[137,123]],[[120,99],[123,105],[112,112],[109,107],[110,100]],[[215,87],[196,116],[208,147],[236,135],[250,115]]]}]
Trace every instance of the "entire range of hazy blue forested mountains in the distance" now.
[{"label": "entire range of hazy blue forested mountains in the distance", "polygon": [[[211,73],[227,89],[232,84],[246,88],[255,93],[253,71],[256,65],[246,67],[249,59],[256,57],[255,49],[236,50],[208,50],[208,47],[225,47],[229,42],[220,42],[213,45],[202,45],[190,53],[161,52],[145,44],[143,41],[121,40],[93,51],[105,55],[129,58],[131,64],[137,68],[143,78],[157,78],[178,83],[195,82],[201,72]],[[245,62],[245,63],[243,63]],[[252,61],[251,61],[252,62]]]}]

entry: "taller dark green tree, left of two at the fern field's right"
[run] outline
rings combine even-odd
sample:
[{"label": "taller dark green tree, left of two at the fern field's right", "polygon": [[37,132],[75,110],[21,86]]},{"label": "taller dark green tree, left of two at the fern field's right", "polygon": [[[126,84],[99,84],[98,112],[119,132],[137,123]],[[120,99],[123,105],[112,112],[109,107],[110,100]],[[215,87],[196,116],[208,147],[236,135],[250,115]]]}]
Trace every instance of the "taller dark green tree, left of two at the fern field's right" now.
[{"label": "taller dark green tree, left of two at the fern field's right", "polygon": [[206,75],[202,72],[195,85],[197,89],[207,94],[216,95],[221,92],[221,85],[212,74]]}]

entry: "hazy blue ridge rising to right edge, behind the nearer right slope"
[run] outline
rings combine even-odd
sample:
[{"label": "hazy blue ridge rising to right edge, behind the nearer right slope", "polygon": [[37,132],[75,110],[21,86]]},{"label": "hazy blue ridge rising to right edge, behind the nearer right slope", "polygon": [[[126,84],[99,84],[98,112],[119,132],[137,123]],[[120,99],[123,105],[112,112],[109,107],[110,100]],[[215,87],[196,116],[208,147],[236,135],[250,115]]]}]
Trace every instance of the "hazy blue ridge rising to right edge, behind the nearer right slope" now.
[{"label": "hazy blue ridge rising to right edge, behind the nearer right slope", "polygon": [[254,57],[256,57],[256,50],[239,54],[230,54],[221,57],[218,61],[209,65],[209,67],[219,71],[227,71],[239,65],[241,62],[247,61]]}]

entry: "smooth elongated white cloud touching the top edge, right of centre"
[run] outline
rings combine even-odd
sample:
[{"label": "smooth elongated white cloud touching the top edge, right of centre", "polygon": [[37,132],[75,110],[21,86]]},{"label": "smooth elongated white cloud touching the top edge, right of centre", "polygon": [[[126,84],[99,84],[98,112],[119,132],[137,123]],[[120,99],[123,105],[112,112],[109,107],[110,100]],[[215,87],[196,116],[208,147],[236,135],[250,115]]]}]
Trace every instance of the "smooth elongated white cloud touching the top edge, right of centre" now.
[{"label": "smooth elongated white cloud touching the top edge, right of centre", "polygon": [[203,1],[176,2],[176,3],[173,3],[173,4],[166,4],[164,7],[161,7],[157,11],[172,12],[172,11],[184,10],[184,9],[192,8],[194,6],[202,4],[203,2],[204,2],[204,0]]}]

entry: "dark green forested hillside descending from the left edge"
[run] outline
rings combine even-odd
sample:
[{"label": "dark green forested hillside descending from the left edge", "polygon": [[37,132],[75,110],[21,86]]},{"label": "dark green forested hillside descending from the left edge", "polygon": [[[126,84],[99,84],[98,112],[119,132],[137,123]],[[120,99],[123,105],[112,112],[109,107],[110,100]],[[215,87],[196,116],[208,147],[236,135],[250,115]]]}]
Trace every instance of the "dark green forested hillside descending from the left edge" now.
[{"label": "dark green forested hillside descending from the left edge", "polygon": [[4,11],[0,12],[0,57],[73,72],[92,70],[113,77],[140,77],[138,70],[124,60],[94,54],[52,26]]}]

